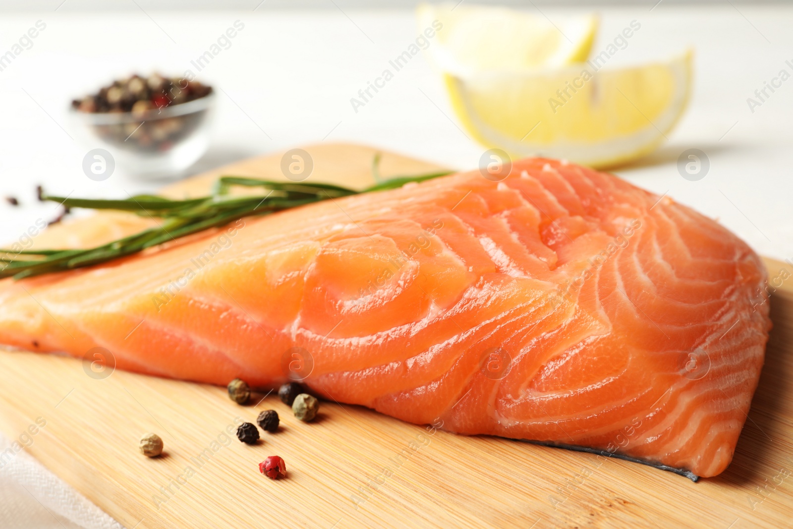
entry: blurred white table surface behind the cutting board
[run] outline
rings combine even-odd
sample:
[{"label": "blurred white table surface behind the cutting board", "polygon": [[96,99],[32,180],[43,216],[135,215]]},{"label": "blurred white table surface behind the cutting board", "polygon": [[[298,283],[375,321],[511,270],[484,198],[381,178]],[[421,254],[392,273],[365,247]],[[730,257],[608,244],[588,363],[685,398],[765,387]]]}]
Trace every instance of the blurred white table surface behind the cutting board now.
[{"label": "blurred white table surface behind the cutting board", "polygon": [[[88,148],[70,137],[75,132],[68,104],[132,71],[195,71],[190,61],[236,20],[244,29],[198,73],[198,79],[224,92],[213,147],[196,171],[323,140],[374,144],[450,167],[476,167],[484,148],[455,125],[439,78],[423,58],[413,59],[358,113],[351,106],[350,98],[415,38],[412,13],[342,13],[330,7],[323,12],[4,15],[0,53],[36,21],[46,29],[0,71],[0,195],[25,204],[0,205],[0,238],[16,240],[37,218],[55,217],[53,205],[34,200],[39,183],[52,193],[94,197],[155,189],[158,184],[136,181],[121,170],[105,182],[86,178],[81,164]],[[793,79],[754,112],[746,102],[781,69],[793,74],[785,63],[793,63],[793,9],[649,7],[600,10],[602,28],[594,49],[635,19],[641,31],[610,66],[663,58],[691,45],[696,50],[694,94],[668,143],[616,172],[718,218],[764,255],[793,258]],[[551,19],[564,14],[541,9]],[[676,170],[678,156],[688,148],[702,149],[710,159],[710,172],[698,182]],[[13,489],[13,479],[0,471],[4,490]],[[29,504],[40,508],[33,500]],[[2,516],[0,508],[0,526]],[[61,527],[47,514],[30,516],[31,526]]]}]

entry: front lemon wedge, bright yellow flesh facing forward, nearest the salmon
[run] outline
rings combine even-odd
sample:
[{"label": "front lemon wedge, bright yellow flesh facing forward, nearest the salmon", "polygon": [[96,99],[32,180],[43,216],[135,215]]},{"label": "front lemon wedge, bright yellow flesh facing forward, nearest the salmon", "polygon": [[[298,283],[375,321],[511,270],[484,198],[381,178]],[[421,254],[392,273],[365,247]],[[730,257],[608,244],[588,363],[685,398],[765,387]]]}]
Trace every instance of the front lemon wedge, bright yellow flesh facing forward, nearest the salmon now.
[{"label": "front lemon wedge, bright yellow flesh facing forward, nearest the salmon", "polygon": [[446,73],[454,111],[481,144],[515,158],[542,155],[612,167],[653,151],[691,93],[688,51],[667,62],[465,79]]}]

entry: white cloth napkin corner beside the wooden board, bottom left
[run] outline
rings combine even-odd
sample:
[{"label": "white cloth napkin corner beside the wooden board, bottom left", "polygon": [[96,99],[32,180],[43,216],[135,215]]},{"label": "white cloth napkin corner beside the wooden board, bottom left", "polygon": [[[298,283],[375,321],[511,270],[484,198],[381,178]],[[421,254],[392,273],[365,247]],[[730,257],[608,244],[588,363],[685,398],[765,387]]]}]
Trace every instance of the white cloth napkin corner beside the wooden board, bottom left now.
[{"label": "white cloth napkin corner beside the wooden board, bottom left", "polygon": [[[0,454],[10,446],[0,434]],[[124,529],[25,450],[0,466],[0,529]]]}]

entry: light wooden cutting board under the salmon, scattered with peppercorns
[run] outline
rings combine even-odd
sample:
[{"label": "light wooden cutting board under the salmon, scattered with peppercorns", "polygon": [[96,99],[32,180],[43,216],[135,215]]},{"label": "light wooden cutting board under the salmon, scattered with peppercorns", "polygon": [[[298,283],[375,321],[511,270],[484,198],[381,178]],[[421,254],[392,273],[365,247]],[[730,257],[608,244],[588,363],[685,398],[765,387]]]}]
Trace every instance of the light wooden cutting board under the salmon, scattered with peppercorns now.
[{"label": "light wooden cutting board under the salmon, scattered with peppercorns", "polygon": [[[373,149],[306,149],[313,181],[364,185],[371,178]],[[248,160],[170,192],[201,192],[221,173],[276,178],[280,162],[280,155]],[[386,176],[434,167],[389,154],[381,163]],[[770,278],[782,269],[793,274],[793,266],[767,264]],[[25,352],[0,351],[0,431],[29,444],[24,450],[128,529],[790,527],[791,282],[772,295],[774,329],[734,461],[698,483],[592,454],[452,435],[335,402],[323,402],[318,420],[304,424],[273,395],[239,406],[223,388],[121,370],[97,379],[78,359]],[[228,435],[235,421],[253,422],[269,408],[282,427],[258,446]],[[32,426],[36,420],[46,424]],[[145,431],[163,437],[164,457],[140,455]],[[285,459],[287,479],[259,473],[271,454]]]}]

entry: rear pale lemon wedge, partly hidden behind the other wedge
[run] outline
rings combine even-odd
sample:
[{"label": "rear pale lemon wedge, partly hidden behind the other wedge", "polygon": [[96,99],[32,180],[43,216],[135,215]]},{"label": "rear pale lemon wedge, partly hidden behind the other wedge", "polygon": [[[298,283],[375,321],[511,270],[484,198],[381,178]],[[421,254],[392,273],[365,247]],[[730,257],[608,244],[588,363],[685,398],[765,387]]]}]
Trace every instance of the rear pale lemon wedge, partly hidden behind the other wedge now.
[{"label": "rear pale lemon wedge, partly hidden behind the other wedge", "polygon": [[419,30],[435,28],[428,50],[440,70],[461,77],[583,62],[595,39],[595,16],[554,25],[543,16],[499,7],[419,5]]}]

